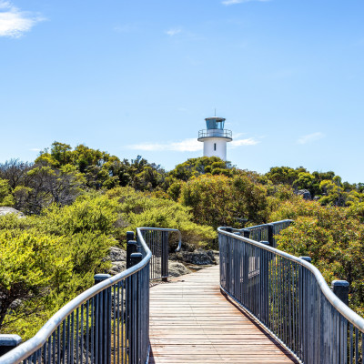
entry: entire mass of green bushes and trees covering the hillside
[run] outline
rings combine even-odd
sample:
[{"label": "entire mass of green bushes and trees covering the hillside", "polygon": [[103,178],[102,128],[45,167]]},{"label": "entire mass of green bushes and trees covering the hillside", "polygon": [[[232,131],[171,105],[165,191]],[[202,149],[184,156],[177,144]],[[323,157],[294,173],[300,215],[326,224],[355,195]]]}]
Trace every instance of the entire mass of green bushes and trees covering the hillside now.
[{"label": "entire mass of green bushes and trees covering the hillside", "polygon": [[0,217],[0,330],[24,339],[107,271],[109,248],[123,247],[138,226],[175,227],[184,242],[214,247],[218,226],[292,218],[279,248],[310,256],[328,282],[347,279],[350,305],[364,313],[364,184],[334,172],[260,175],[217,157],[166,171],[140,156],[55,142],[34,163],[0,165],[0,206],[26,216]]}]

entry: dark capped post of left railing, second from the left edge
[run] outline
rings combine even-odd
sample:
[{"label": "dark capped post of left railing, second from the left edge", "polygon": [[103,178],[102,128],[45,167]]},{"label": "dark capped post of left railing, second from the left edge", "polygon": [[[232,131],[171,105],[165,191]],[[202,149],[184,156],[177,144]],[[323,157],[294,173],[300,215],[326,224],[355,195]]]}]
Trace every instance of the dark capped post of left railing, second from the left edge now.
[{"label": "dark capped post of left railing, second from the left edge", "polygon": [[[109,274],[96,274],[95,284],[111,278]],[[95,348],[96,363],[111,362],[111,288],[106,288],[95,296]]]}]

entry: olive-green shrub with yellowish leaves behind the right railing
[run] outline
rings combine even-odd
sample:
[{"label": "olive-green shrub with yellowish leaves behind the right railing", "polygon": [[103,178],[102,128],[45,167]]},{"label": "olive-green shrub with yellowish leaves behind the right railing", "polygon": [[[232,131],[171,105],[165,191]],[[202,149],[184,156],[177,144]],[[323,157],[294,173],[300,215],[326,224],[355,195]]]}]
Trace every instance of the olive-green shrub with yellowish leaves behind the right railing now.
[{"label": "olive-green shrub with yellowish leaves behind the right railing", "polygon": [[272,220],[293,218],[278,236],[278,248],[309,256],[328,284],[345,279],[350,284],[350,306],[364,314],[364,226],[349,208],[323,207],[316,201],[287,201]]}]

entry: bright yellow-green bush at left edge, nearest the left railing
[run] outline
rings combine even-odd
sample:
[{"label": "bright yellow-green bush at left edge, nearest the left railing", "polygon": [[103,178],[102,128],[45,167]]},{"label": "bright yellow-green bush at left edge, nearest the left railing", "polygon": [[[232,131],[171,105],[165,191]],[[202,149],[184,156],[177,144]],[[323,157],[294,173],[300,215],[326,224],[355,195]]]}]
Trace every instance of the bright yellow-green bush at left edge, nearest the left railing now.
[{"label": "bright yellow-green bush at left edge, nearest the left railing", "polygon": [[0,230],[0,328],[14,329],[19,319],[32,322],[71,278],[59,241],[34,229]]}]

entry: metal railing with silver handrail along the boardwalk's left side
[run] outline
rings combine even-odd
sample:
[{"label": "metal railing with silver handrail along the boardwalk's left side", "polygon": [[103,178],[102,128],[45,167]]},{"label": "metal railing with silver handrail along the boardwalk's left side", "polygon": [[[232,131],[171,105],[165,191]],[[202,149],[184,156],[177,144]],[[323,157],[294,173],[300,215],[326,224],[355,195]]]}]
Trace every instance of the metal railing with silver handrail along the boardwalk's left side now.
[{"label": "metal railing with silver handrail along the boardwalk's left side", "polygon": [[[156,231],[158,233],[156,233]],[[100,278],[100,283],[71,300],[49,319],[32,339],[0,357],[0,364],[136,364],[149,353],[148,247],[166,244],[166,234],[176,229],[136,228],[137,252],[133,267]],[[165,234],[163,242],[157,241]],[[179,233],[179,245],[181,240]],[[100,275],[98,275],[100,276]]]}]

